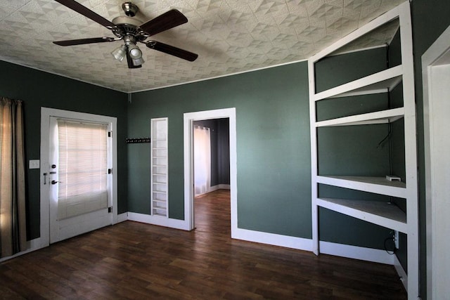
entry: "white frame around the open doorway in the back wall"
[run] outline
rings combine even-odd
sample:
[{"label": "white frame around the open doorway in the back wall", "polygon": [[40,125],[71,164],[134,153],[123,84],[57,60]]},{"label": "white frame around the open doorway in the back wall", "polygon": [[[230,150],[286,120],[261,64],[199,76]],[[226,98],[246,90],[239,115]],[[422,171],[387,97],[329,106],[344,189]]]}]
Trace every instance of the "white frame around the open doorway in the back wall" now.
[{"label": "white frame around the open doorway in the back wall", "polygon": [[238,228],[238,180],[236,159],[236,107],[184,114],[184,220],[188,230],[194,229],[193,199],[193,122],[205,119],[229,118],[230,122],[230,201],[231,237]]}]

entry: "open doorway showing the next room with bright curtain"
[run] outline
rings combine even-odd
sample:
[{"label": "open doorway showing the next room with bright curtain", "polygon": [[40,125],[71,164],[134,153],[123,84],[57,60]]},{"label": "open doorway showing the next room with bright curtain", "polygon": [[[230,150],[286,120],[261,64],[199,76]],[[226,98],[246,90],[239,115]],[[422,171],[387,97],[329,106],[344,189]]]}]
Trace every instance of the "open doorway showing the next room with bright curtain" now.
[{"label": "open doorway showing the next room with bright curtain", "polygon": [[231,235],[229,144],[229,118],[193,122],[195,230]]}]

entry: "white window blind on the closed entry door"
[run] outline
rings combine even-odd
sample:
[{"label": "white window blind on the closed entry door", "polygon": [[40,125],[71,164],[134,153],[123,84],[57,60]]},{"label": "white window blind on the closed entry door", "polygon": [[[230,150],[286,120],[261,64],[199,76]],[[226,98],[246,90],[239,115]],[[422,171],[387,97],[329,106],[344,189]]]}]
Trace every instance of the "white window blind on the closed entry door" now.
[{"label": "white window blind on the closed entry door", "polygon": [[108,124],[58,119],[58,219],[108,207]]}]

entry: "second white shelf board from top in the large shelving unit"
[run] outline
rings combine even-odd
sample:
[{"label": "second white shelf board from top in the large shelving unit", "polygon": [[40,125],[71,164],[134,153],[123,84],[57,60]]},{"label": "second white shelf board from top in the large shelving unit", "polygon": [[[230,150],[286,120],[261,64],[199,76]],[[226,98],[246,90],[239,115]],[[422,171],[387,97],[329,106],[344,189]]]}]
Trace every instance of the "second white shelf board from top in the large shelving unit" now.
[{"label": "second white shelf board from top in the large shelving unit", "polygon": [[404,117],[404,107],[316,122],[316,127],[385,124]]}]

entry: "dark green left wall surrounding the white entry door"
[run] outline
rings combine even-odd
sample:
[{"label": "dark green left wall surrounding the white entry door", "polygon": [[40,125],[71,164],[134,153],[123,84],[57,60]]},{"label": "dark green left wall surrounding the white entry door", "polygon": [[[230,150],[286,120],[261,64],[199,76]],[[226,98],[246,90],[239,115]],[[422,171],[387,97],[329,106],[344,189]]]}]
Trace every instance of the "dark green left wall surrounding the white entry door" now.
[{"label": "dark green left wall surrounding the white entry door", "polygon": [[[127,94],[0,60],[0,96],[23,100],[25,159],[39,159],[41,107],[117,117],[117,172],[127,181]],[[27,169],[28,238],[40,236],[39,169]],[[118,186],[118,212],[127,211],[127,185]]]}]

